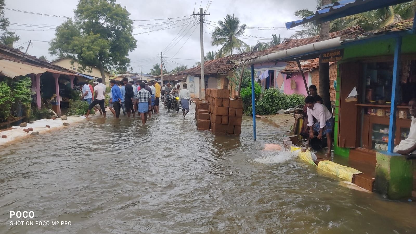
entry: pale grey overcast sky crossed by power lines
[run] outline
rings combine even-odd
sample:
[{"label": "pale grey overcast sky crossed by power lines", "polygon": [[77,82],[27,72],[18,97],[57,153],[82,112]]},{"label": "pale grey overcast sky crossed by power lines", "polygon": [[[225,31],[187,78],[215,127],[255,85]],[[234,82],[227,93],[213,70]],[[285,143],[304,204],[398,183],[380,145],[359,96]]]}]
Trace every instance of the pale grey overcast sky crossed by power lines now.
[{"label": "pale grey overcast sky crossed by power lines", "polygon": [[[194,9],[195,12],[198,12],[198,9],[201,7],[205,10],[209,1],[210,0],[117,0],[117,3],[122,6],[126,6],[127,10],[131,13],[131,20],[153,20],[191,15]],[[6,0],[6,7],[50,15],[74,16],[72,10],[77,7],[77,3],[78,0]],[[199,7],[200,5],[201,7]],[[209,25],[213,24],[209,21],[217,22],[218,20],[223,20],[227,14],[234,14],[240,18],[241,23],[245,23],[250,27],[285,27],[285,22],[297,20],[297,18],[293,15],[295,10],[304,8],[314,10],[315,7],[315,0],[212,0],[211,5],[206,12],[210,15],[206,16],[206,24],[204,24],[204,53],[219,49],[211,46],[210,44],[210,32],[212,32],[215,26]],[[54,37],[54,31],[52,31],[54,30],[53,26],[57,26],[66,20],[65,18],[34,15],[7,9],[5,10],[5,16],[9,18],[12,24],[15,24],[10,25],[9,30],[15,31],[17,35],[20,36],[20,40],[15,44],[15,46],[28,42],[29,40],[52,40]],[[138,26],[141,28],[136,27],[136,29],[134,29],[134,34],[146,32],[134,35],[138,41],[137,49],[129,54],[131,67],[134,68],[134,72],[140,72],[140,65],[143,65],[142,72],[150,72],[152,65],[160,63],[160,57],[157,56],[158,53],[165,48],[166,49],[163,50],[163,54],[167,57],[164,60],[167,70],[170,71],[178,65],[187,65],[188,67],[192,67],[192,65],[194,65],[200,58],[200,26],[199,24],[186,25],[187,19],[188,17],[182,17],[171,20],[134,22],[135,26],[168,22],[163,23],[163,25]],[[191,20],[192,19],[190,19],[188,23],[191,22]],[[28,27],[30,25],[23,26],[19,24],[37,25],[35,27],[33,27],[34,25],[32,25],[32,27]],[[143,27],[152,28],[143,29]],[[165,30],[149,32],[151,30],[162,29],[165,27],[168,28]],[[277,35],[280,34],[281,37],[284,38],[290,37],[296,32],[296,30],[299,29],[247,29],[244,33],[246,36],[243,36],[241,40],[246,42],[248,45],[255,45],[258,39],[248,38],[253,38],[253,36],[271,38],[273,33],[276,33]],[[176,37],[178,32],[180,32],[179,36]],[[175,37],[178,40],[171,43]],[[260,39],[260,41],[267,42],[269,40]],[[171,43],[171,46],[167,47],[169,43]],[[23,46],[26,48],[27,43]],[[33,42],[33,47],[30,46],[28,53],[37,57],[45,55],[48,60],[53,60],[54,57],[48,54],[48,48],[48,42]],[[178,58],[185,58],[188,60]]]}]

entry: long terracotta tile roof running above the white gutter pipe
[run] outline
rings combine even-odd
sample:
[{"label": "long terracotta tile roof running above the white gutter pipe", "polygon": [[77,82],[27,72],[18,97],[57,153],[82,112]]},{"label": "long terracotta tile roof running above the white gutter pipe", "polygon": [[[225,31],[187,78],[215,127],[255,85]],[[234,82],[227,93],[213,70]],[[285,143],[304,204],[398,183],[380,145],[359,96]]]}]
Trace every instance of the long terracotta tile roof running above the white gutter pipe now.
[{"label": "long terracotta tile roof running above the white gutter pipe", "polygon": [[[345,30],[341,30],[338,32],[331,32],[329,36],[331,38],[345,36],[345,35],[359,35],[363,33],[364,30],[361,26],[357,25],[354,27],[349,27]],[[319,36],[309,37],[309,38],[302,38],[302,39],[287,39],[285,42],[280,43],[274,47],[270,47],[267,50],[262,51],[249,51],[244,52],[241,54],[230,55],[227,57],[215,59],[215,60],[208,60],[204,62],[204,72],[206,75],[213,75],[213,74],[220,74],[226,75],[230,70],[233,70],[237,65],[235,65],[235,60],[242,60],[249,57],[258,57],[262,55],[271,54],[281,50],[287,50],[294,47],[298,47],[301,45],[307,45],[313,42],[319,41]],[[193,67],[191,69],[183,71],[186,75],[201,75],[201,66]]]}]

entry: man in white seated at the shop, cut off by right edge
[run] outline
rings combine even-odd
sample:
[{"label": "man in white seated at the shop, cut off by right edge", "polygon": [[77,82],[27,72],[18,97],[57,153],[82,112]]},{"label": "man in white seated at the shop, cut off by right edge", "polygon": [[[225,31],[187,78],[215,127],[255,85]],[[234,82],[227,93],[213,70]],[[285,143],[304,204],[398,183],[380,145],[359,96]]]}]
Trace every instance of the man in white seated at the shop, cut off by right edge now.
[{"label": "man in white seated at the shop, cut off by right edge", "polygon": [[399,145],[394,147],[394,152],[409,155],[412,157],[416,156],[416,98],[409,102],[409,112],[412,115],[412,122],[410,124],[409,136],[400,142]]}]

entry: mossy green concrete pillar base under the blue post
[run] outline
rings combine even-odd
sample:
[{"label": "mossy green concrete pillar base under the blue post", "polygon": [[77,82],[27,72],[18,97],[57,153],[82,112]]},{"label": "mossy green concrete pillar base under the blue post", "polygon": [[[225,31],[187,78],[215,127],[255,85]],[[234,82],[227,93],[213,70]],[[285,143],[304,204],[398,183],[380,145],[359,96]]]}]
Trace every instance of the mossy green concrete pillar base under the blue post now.
[{"label": "mossy green concrete pillar base under the blue post", "polygon": [[377,152],[374,191],[389,199],[406,199],[413,187],[411,160],[400,154]]}]

